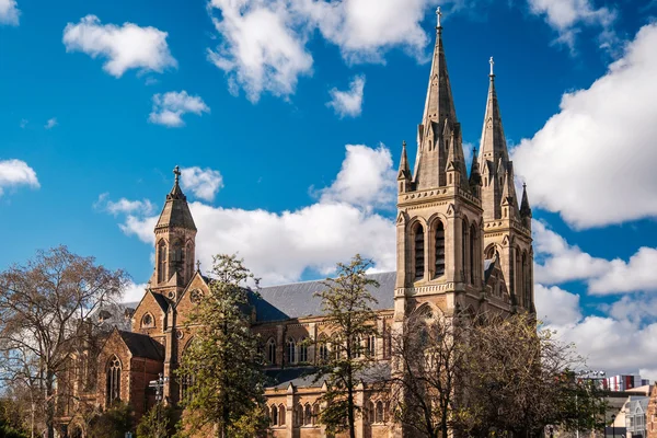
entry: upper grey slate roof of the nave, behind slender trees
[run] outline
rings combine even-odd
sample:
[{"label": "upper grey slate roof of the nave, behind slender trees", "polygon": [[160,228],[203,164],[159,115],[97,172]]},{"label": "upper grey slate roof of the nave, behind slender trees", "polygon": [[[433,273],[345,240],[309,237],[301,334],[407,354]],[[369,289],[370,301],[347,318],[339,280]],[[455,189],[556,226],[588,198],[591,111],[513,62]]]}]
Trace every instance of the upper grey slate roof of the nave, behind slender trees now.
[{"label": "upper grey slate roof of the nave, behind slender trees", "polygon": [[[370,287],[370,292],[379,301],[373,310],[394,307],[394,285],[396,272],[370,274],[369,278],[379,281],[379,287]],[[322,280],[268,286],[260,290],[261,297],[252,297],[257,322],[281,321],[290,318],[321,316],[322,301],[314,293],[326,287]]]}]

